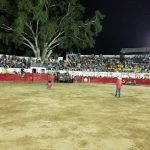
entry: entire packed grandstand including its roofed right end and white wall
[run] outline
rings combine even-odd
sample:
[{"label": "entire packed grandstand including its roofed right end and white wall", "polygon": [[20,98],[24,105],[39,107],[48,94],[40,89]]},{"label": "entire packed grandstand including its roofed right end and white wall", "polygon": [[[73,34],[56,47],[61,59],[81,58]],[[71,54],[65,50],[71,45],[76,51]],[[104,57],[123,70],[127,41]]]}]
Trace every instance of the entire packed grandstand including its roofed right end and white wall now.
[{"label": "entire packed grandstand including its roofed right end and white wall", "polygon": [[[142,54],[139,54],[139,52]],[[74,76],[77,74],[104,76],[104,73],[102,75],[101,72],[105,72],[105,76],[109,77],[110,74],[116,76],[113,74],[117,72],[123,73],[124,77],[129,77],[127,74],[132,73],[134,75],[130,75],[130,77],[139,77],[139,74],[141,74],[141,78],[144,78],[144,74],[146,74],[145,77],[149,77],[150,73],[149,52],[150,49],[148,48],[124,48],[120,51],[120,56],[67,54],[66,60],[40,60],[31,57],[0,55],[0,73],[16,74],[21,72],[21,68],[24,68],[25,72],[30,73],[54,73],[63,70],[69,71]],[[129,53],[130,55],[127,55]],[[134,55],[131,55],[131,53]],[[38,67],[41,69],[38,69]]]}]

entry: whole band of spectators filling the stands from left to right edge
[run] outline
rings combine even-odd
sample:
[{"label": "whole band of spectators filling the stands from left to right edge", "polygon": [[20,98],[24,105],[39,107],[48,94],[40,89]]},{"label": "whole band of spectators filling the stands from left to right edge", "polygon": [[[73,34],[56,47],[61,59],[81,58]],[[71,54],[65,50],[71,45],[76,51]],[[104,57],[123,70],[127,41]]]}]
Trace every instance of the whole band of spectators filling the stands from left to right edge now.
[{"label": "whole band of spectators filling the stands from left to right edge", "polygon": [[68,54],[66,59],[40,60],[30,57],[0,55],[0,67],[45,67],[49,70],[150,72],[150,55],[80,55]]}]

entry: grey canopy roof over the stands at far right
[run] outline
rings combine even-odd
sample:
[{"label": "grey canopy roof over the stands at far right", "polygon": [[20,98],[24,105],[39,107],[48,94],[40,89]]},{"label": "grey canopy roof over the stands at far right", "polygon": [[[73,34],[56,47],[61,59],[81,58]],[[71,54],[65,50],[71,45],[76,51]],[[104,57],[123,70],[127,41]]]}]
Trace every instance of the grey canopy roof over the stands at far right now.
[{"label": "grey canopy roof over the stands at far right", "polygon": [[140,48],[122,48],[120,53],[150,53],[150,47],[140,47]]}]

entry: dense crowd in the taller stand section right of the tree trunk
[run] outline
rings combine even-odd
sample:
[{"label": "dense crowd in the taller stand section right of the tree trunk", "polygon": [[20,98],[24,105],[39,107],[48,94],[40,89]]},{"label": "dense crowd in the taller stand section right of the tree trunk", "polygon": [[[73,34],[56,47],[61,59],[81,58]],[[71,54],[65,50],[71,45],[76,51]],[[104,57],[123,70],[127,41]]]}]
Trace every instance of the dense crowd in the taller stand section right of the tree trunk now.
[{"label": "dense crowd in the taller stand section right of the tree trunk", "polygon": [[150,72],[150,55],[68,55],[68,69],[81,71]]}]

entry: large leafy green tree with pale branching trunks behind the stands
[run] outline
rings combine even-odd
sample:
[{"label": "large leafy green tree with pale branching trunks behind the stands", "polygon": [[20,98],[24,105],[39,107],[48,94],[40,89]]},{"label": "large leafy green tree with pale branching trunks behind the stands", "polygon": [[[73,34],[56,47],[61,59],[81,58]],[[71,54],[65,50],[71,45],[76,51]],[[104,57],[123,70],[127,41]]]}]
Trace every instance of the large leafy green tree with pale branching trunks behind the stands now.
[{"label": "large leafy green tree with pale branching trunks behind the stands", "polygon": [[78,0],[0,0],[0,38],[24,44],[35,57],[49,58],[58,47],[92,48],[104,16],[96,11],[85,19]]}]

